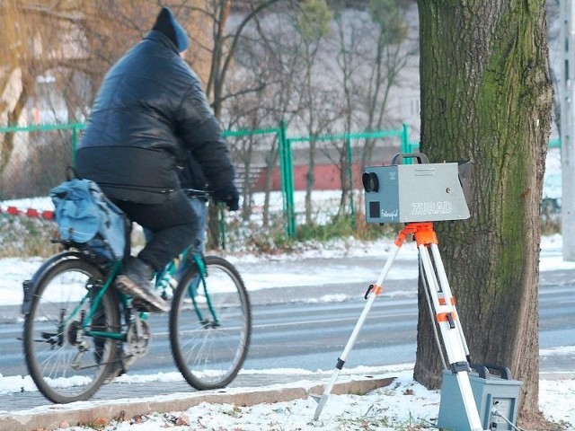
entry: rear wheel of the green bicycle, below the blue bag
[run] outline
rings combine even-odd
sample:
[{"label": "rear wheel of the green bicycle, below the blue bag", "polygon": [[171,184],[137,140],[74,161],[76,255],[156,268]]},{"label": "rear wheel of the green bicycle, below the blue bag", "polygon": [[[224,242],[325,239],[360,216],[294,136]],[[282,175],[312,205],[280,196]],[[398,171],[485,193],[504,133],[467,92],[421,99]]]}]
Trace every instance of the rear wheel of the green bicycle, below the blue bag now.
[{"label": "rear wheel of the green bicycle, below the blue bag", "polygon": [[37,277],[24,318],[24,357],[32,380],[52,402],[88,400],[111,373],[117,341],[85,333],[119,332],[119,304],[111,289],[83,329],[102,278],[97,267],[82,259],[62,259]]}]

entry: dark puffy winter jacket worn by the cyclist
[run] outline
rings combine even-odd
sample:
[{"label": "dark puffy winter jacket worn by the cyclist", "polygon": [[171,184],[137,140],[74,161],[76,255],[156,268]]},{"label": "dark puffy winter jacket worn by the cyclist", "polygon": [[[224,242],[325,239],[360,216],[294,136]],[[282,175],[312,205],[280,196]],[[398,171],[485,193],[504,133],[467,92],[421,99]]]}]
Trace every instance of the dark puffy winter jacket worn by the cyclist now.
[{"label": "dark puffy winter jacket worn by the cyclist", "polygon": [[234,187],[226,141],[199,78],[172,40],[149,31],[105,76],[75,168],[111,198],[157,204],[180,189],[188,150],[209,189]]}]

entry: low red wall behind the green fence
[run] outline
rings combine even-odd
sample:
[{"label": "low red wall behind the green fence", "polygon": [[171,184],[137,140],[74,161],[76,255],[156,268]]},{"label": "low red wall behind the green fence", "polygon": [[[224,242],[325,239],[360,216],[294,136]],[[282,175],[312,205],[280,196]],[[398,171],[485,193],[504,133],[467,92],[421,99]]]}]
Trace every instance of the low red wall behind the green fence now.
[{"label": "low red wall behind the green fence", "polygon": [[[361,186],[362,166],[354,163],[351,167],[353,172],[353,187]],[[259,174],[252,182],[252,191],[264,191],[266,168],[261,168]],[[339,166],[332,163],[316,164],[314,169],[314,189],[318,190],[341,190],[341,171]],[[294,189],[305,190],[307,165],[294,166]],[[271,175],[271,189],[280,190],[279,167],[274,167]]]}]

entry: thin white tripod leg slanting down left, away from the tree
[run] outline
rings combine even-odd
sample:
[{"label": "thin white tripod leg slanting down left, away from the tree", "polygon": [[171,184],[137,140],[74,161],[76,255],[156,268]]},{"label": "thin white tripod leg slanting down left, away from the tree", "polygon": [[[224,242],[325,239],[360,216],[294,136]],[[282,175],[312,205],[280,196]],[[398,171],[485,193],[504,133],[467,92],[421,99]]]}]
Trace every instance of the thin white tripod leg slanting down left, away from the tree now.
[{"label": "thin white tripod leg slanting down left, away from the tree", "polygon": [[[398,242],[399,242],[399,244],[398,244]],[[367,294],[367,303],[363,308],[363,312],[361,312],[361,315],[359,316],[359,320],[356,323],[356,326],[353,329],[353,332],[351,332],[351,336],[349,337],[348,344],[346,344],[345,348],[343,349],[343,353],[341,353],[341,356],[338,357],[338,362],[335,365],[335,370],[333,370],[332,379],[330,380],[330,383],[328,383],[328,385],[325,387],[325,390],[323,391],[322,398],[320,398],[320,400],[318,400],[317,408],[315,409],[314,420],[317,420],[317,418],[320,417],[320,414],[322,414],[323,406],[325,406],[325,403],[327,402],[328,398],[330,397],[330,393],[332,393],[333,385],[335,384],[335,381],[337,380],[338,376],[340,375],[341,368],[343,368],[343,365],[345,364],[345,361],[348,358],[349,352],[351,351],[354,344],[356,343],[356,339],[358,339],[359,330],[361,330],[361,327],[363,326],[364,322],[366,321],[367,314],[369,313],[371,306],[373,305],[374,301],[376,301],[376,297],[383,290],[382,286],[383,286],[385,277],[387,276],[387,273],[389,272],[389,268],[391,268],[392,264],[394,263],[394,259],[397,256],[397,252],[399,251],[401,246],[402,246],[402,242],[400,242],[400,241],[396,241],[394,243],[394,249],[392,249],[391,255],[389,256],[389,258],[385,262],[385,266],[382,269],[381,274],[377,278],[376,284],[369,286],[370,290],[368,291],[368,294]]]}]

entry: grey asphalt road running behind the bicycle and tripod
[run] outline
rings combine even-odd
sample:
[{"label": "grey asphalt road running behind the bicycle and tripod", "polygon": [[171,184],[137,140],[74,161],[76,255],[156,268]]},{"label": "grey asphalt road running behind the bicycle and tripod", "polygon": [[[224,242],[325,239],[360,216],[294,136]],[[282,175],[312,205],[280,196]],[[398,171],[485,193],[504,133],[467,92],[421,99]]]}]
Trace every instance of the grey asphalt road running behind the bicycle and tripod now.
[{"label": "grey asphalt road running behind the bicycle and tripod", "polygon": [[[325,261],[312,260],[306,263],[326,264]],[[332,262],[333,265],[337,263]],[[372,278],[373,262],[365,259],[363,264],[367,278]],[[378,272],[379,268],[376,269]],[[242,270],[247,272],[251,269],[243,266]],[[356,283],[332,280],[328,285],[253,291],[252,345],[243,368],[297,368],[331,372],[364,308],[363,294],[367,284],[368,281],[364,280]],[[368,314],[357,344],[348,356],[346,368],[393,365],[415,360],[416,288],[414,279],[386,283],[385,294],[377,298]],[[322,298],[326,295],[338,295],[341,302],[323,302]],[[543,272],[540,281],[539,339],[542,349],[575,346],[574,310],[575,270]],[[0,309],[3,316],[3,324],[0,324],[0,374],[4,377],[28,374],[22,361],[22,343],[18,340],[22,322],[17,321],[15,314],[16,307]],[[150,352],[132,365],[129,374],[177,371],[170,352],[167,317],[152,315],[148,323],[153,333]],[[571,353],[567,349],[564,353],[544,354],[541,357],[541,371],[574,371],[575,353],[572,350]],[[181,385],[175,385],[174,391],[181,391]],[[106,397],[113,396],[108,392]],[[117,396],[128,395],[119,391]],[[13,409],[29,408],[31,397],[37,399],[38,394],[18,394],[18,400],[13,400]],[[39,402],[42,401],[35,403]]]}]

